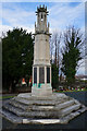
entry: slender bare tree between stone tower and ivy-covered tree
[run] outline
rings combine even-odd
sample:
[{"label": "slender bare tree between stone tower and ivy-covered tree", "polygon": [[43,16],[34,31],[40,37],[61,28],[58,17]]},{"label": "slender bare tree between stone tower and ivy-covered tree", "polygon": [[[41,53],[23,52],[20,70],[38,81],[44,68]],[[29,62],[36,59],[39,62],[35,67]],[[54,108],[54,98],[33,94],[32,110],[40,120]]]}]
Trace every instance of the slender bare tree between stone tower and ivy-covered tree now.
[{"label": "slender bare tree between stone tower and ivy-covered tree", "polygon": [[[59,47],[61,43],[61,35],[58,32],[54,32],[51,37],[50,43],[50,53],[51,53],[51,61],[52,61],[52,86],[54,88],[59,87]],[[54,58],[54,59],[52,59]]]}]

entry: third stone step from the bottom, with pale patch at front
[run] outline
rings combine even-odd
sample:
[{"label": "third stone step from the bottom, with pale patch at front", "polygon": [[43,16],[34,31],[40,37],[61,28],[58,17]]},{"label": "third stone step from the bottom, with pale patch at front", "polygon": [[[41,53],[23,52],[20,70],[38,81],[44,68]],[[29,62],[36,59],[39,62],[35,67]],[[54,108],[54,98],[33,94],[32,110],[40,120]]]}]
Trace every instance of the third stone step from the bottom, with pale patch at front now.
[{"label": "third stone step from the bottom, with pale patch at front", "polygon": [[73,105],[74,103],[75,103],[75,100],[74,99],[72,99],[72,100],[69,100],[69,102],[61,102],[62,104],[58,104],[57,103],[57,105],[54,106],[54,105],[46,105],[46,102],[45,102],[45,105],[42,104],[42,105],[32,105],[32,103],[30,103],[30,105],[25,105],[24,103],[20,103],[20,102],[17,102],[17,100],[15,100],[15,99],[12,99],[12,100],[10,100],[10,104],[12,105],[12,106],[14,106],[14,107],[17,107],[17,108],[21,108],[21,109],[23,109],[23,110],[27,110],[27,111],[29,111],[29,110],[34,110],[34,111],[41,111],[41,110],[44,110],[44,111],[47,111],[47,110],[60,110],[60,109],[63,109],[63,108],[65,108],[65,107],[69,107],[69,106],[71,106],[71,105]]}]

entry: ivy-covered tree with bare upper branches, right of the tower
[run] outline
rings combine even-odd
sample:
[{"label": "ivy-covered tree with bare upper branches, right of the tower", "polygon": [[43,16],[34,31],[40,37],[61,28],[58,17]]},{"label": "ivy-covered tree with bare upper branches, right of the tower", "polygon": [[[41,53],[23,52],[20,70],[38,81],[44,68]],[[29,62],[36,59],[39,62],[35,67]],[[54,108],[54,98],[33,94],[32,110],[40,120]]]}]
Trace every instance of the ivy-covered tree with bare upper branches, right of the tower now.
[{"label": "ivy-covered tree with bare upper branches, right of the tower", "polygon": [[70,85],[75,82],[76,68],[78,61],[82,60],[80,47],[83,46],[83,35],[79,29],[76,29],[74,26],[69,27],[64,33],[64,44],[61,70]]}]

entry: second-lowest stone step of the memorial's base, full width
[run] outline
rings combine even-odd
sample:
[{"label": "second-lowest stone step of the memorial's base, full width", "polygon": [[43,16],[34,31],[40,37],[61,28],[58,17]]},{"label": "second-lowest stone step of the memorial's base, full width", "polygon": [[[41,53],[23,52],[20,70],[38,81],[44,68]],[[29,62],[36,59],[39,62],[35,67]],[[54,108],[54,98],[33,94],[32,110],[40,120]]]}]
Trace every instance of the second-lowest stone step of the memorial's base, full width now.
[{"label": "second-lowest stone step of the memorial's base, full width", "polygon": [[[20,116],[20,117],[26,117],[26,118],[61,118],[61,117],[64,117],[69,114],[71,114],[72,111],[74,110],[77,110],[78,108],[80,107],[80,105],[73,105],[71,107],[66,107],[62,110],[59,110],[59,111],[54,111],[54,110],[47,110],[47,106],[46,107],[42,107],[42,108],[46,108],[45,110],[23,110],[23,109],[20,109],[20,108],[16,108],[14,106],[11,106],[10,104],[7,104],[5,106],[3,106],[3,108],[5,108],[7,110],[15,114],[16,116]],[[41,108],[41,106],[40,106]],[[49,107],[48,107],[49,108]],[[50,107],[52,108],[52,107]]]}]

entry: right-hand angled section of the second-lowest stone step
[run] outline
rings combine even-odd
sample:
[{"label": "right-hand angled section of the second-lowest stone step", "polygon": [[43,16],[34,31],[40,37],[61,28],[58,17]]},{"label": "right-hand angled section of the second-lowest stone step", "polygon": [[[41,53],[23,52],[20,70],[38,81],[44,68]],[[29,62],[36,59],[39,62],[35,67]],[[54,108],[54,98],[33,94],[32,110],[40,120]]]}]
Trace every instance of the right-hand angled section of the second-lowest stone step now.
[{"label": "right-hand angled section of the second-lowest stone step", "polygon": [[80,106],[82,106],[80,104],[75,104],[73,106],[66,107],[66,108],[60,110],[59,117],[64,117],[73,111],[76,111],[77,109],[80,108]]}]

